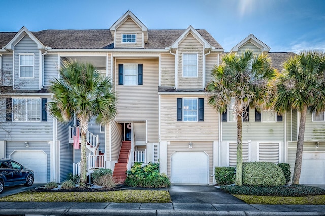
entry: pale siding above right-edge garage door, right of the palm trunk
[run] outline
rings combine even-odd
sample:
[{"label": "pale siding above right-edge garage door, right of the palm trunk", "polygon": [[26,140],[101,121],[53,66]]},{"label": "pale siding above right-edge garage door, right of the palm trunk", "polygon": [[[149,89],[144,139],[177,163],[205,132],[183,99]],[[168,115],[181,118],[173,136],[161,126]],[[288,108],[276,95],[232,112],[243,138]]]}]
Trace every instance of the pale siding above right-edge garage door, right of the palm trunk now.
[{"label": "pale siding above right-edge garage door, right of the palm trunk", "polygon": [[312,121],[312,114],[308,111],[306,115],[306,126],[304,140],[325,141],[325,122]]}]

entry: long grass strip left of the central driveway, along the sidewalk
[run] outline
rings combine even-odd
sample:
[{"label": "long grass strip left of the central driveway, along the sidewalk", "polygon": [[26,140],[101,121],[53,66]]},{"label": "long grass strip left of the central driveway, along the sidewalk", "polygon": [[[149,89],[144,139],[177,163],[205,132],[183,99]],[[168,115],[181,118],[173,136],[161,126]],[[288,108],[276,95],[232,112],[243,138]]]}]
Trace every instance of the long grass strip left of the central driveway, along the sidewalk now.
[{"label": "long grass strip left of the central driveway, along the sidewalk", "polygon": [[121,190],[103,192],[27,191],[6,197],[0,202],[172,202],[168,191]]}]

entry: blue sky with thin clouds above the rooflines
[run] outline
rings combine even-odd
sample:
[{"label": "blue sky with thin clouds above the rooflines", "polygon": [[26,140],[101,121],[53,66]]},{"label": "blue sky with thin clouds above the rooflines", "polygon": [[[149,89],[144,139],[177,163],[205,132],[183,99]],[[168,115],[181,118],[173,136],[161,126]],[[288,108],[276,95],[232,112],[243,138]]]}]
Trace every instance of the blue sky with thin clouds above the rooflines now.
[{"label": "blue sky with thin clouds above the rooflines", "polygon": [[325,50],[324,0],[0,0],[0,31],[108,29],[130,10],[148,29],[206,29],[224,48],[250,33],[271,52]]}]

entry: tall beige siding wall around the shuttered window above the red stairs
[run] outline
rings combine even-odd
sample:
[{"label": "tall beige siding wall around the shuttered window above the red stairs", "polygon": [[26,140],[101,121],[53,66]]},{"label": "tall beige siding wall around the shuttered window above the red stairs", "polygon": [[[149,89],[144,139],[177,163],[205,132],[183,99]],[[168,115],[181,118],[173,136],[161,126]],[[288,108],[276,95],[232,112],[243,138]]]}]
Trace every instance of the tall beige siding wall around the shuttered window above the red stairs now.
[{"label": "tall beige siding wall around the shuttered window above the red stairs", "polygon": [[118,84],[118,65],[126,63],[143,64],[143,85],[116,85],[116,121],[147,121],[148,142],[158,142],[158,59],[116,59],[115,83]]}]

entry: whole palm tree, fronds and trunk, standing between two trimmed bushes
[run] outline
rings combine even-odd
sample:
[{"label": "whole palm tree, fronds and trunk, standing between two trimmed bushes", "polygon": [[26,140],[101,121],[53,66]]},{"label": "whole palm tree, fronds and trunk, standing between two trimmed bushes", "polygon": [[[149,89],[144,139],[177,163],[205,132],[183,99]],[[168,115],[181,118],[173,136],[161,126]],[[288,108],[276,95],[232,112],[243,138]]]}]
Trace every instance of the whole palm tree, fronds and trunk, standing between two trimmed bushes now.
[{"label": "whole palm tree, fronds and trunk, standing between two trimmed bushes", "polygon": [[240,56],[225,55],[223,64],[212,71],[213,80],[206,87],[208,103],[218,112],[224,113],[227,106],[234,103],[233,110],[237,122],[237,163],[236,185],[242,185],[242,118],[246,107],[259,111],[272,107],[275,98],[275,78],[277,73],[271,68],[266,55],[253,55],[247,50]]}]

